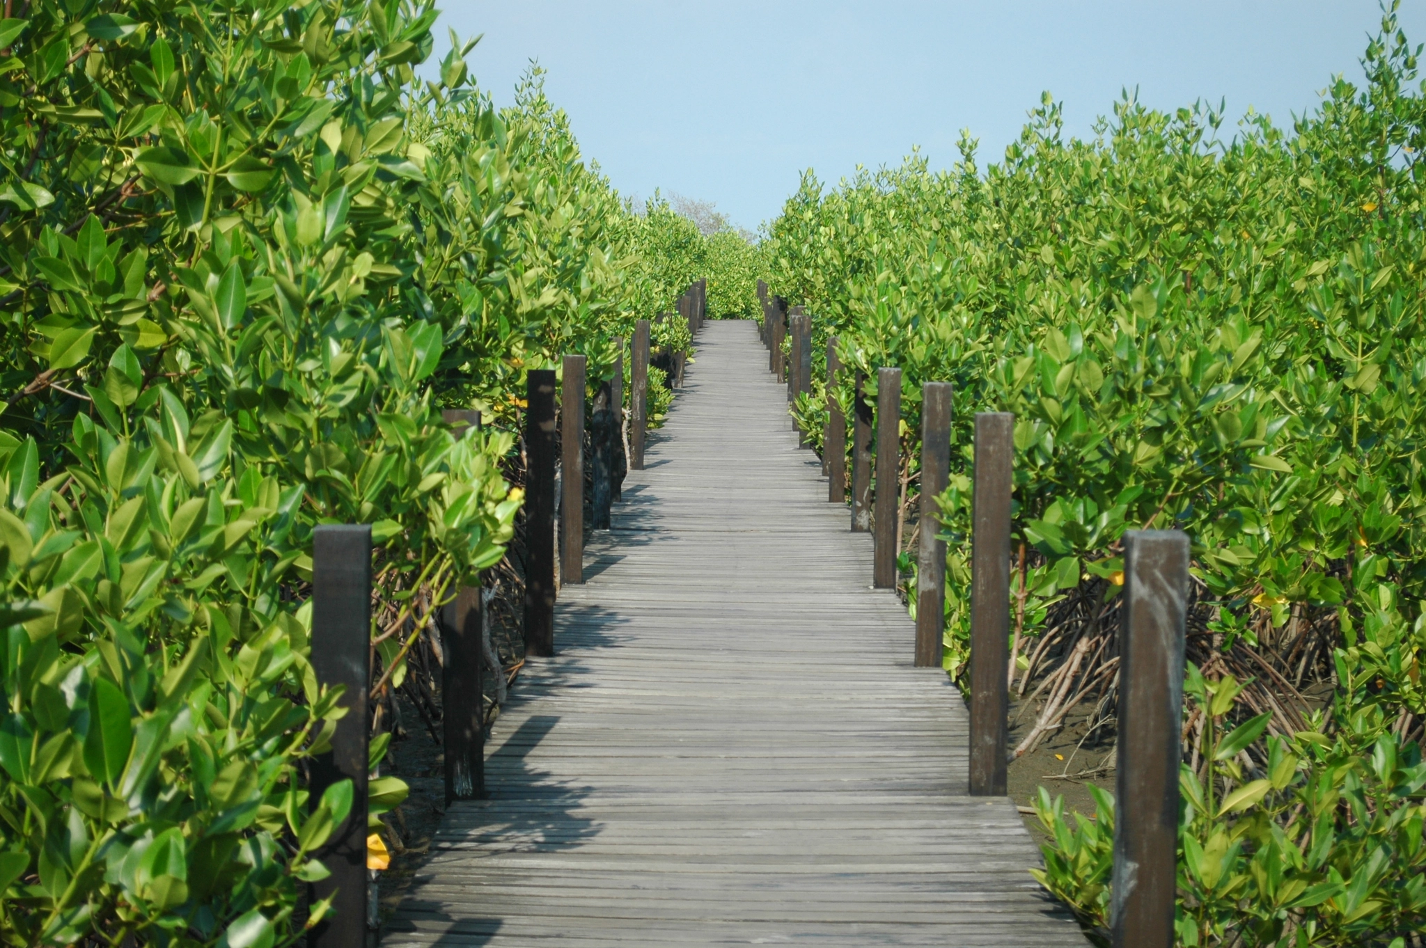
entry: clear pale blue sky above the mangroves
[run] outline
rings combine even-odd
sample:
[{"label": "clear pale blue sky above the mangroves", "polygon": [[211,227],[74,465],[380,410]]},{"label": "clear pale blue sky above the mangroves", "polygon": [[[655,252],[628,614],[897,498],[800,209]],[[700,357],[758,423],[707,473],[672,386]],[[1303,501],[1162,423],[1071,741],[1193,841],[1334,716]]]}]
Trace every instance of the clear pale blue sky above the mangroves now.
[{"label": "clear pale blue sky above the mangroves", "polygon": [[[446,27],[485,34],[482,88],[512,100],[530,60],[586,158],[615,187],[714,201],[749,230],[804,168],[824,181],[920,145],[954,163],[961,128],[1000,160],[1042,90],[1088,135],[1125,87],[1158,108],[1228,100],[1286,125],[1333,74],[1360,80],[1376,0],[445,0]],[[1426,0],[1399,11],[1426,41]],[[1226,128],[1228,123],[1225,123]]]}]

